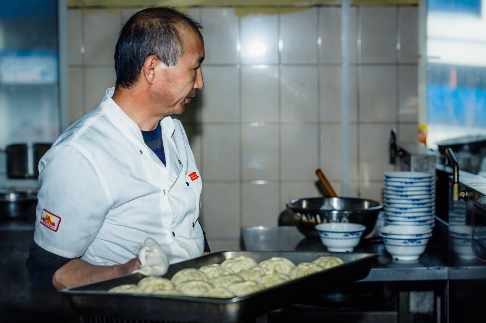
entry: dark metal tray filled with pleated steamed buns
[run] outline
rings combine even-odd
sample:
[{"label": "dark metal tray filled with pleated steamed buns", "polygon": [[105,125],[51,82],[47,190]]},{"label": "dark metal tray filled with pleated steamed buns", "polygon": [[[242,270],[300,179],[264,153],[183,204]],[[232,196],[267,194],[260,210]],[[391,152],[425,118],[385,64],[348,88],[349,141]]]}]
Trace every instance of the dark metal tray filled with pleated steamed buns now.
[{"label": "dark metal tray filled with pleated steamed buns", "polygon": [[366,253],[226,251],[63,291],[82,315],[178,322],[240,322],[365,278]]}]

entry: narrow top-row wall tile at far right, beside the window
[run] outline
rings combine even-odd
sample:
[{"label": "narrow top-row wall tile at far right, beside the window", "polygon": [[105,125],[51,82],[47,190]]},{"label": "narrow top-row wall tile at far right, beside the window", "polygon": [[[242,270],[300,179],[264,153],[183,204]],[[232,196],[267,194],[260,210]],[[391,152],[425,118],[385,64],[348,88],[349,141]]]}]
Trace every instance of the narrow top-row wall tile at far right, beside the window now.
[{"label": "narrow top-row wall tile at far right, beside the window", "polygon": [[418,7],[400,6],[400,62],[417,63]]}]

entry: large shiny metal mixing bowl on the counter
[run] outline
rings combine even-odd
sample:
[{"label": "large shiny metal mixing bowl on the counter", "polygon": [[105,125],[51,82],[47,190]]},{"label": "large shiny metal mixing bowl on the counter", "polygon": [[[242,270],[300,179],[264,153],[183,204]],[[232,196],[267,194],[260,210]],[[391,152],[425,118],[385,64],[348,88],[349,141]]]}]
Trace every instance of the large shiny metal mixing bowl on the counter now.
[{"label": "large shiny metal mixing bowl on the counter", "polygon": [[308,238],[319,238],[314,226],[321,223],[345,222],[366,226],[366,236],[375,225],[380,202],[352,197],[306,197],[287,203],[292,210],[295,226]]}]

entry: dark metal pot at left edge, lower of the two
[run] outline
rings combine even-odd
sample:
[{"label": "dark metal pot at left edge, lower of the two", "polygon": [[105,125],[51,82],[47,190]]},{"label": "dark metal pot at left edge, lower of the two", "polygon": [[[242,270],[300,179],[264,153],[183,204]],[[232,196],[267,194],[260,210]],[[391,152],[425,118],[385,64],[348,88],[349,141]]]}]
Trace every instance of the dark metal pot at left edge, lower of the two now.
[{"label": "dark metal pot at left edge, lower of the two", "polygon": [[37,191],[5,190],[0,192],[0,219],[30,221],[35,218]]}]

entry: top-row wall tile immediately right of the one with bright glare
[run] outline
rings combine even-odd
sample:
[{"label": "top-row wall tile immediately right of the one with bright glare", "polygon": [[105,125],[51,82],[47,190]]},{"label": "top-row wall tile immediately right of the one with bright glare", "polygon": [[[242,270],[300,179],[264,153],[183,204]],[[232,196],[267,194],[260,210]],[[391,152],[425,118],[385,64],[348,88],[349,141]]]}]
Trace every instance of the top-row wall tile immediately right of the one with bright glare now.
[{"label": "top-row wall tile immediately right of the one with bright glare", "polygon": [[317,63],[317,8],[280,15],[282,64]]}]

